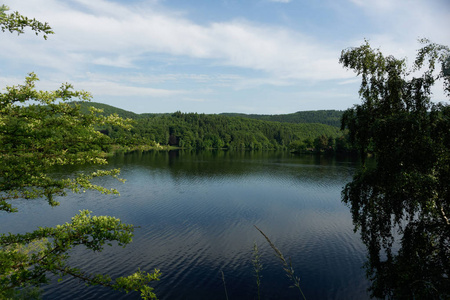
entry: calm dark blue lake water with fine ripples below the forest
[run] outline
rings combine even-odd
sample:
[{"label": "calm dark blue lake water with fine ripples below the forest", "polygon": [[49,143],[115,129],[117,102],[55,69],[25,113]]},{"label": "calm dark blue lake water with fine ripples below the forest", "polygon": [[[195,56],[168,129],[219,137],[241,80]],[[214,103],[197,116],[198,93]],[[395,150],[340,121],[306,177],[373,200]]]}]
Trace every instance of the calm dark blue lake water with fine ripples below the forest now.
[{"label": "calm dark blue lake water with fine ripples below the forest", "polygon": [[[18,201],[18,214],[0,214],[2,232],[70,221],[81,209],[140,226],[126,248],[101,253],[75,249],[72,263],[112,275],[159,268],[158,298],[257,299],[252,267],[256,242],[263,263],[262,299],[299,299],[264,237],[291,257],[307,299],[367,299],[362,265],[366,251],[353,233],[342,187],[357,163],[288,152],[134,152],[116,155],[108,167],[121,168],[121,196],[95,192]],[[45,287],[44,299],[139,299],[139,294],[85,287],[74,279]]]}]

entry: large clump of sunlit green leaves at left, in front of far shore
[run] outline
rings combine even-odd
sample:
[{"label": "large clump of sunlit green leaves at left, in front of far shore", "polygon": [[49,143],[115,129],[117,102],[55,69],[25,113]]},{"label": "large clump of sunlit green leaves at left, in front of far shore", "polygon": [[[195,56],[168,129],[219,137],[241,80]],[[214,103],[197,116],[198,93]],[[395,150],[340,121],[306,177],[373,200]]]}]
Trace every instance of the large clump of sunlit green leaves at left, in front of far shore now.
[{"label": "large clump of sunlit green leaves at left, in front of far shore", "polygon": [[38,91],[37,80],[31,73],[23,85],[7,87],[6,93],[0,94],[0,208],[13,211],[8,200],[15,198],[46,197],[51,205],[57,205],[54,196],[64,196],[66,190],[117,193],[91,180],[117,178],[118,170],[70,178],[54,178],[49,171],[54,166],[106,164],[102,151],[111,141],[96,126],[129,128],[129,122],[115,115],[99,116],[95,109],[84,114],[79,105],[66,101],[87,101],[89,93],[74,91],[69,84],[56,91]]}]

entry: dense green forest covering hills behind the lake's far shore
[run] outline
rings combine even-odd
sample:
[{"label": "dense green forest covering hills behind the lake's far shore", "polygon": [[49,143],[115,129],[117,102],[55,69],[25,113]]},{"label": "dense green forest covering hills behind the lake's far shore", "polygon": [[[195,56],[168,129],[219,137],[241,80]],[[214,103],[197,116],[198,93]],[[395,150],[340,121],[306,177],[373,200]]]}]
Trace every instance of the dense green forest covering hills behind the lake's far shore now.
[{"label": "dense green forest covering hills behind the lake's far shore", "polygon": [[[81,103],[133,119],[133,128],[99,128],[120,145],[170,145],[186,149],[290,149],[292,151],[349,151],[337,125],[340,111],[308,111],[286,115],[166,113],[135,114],[101,103]],[[330,124],[335,124],[329,125]]]}]

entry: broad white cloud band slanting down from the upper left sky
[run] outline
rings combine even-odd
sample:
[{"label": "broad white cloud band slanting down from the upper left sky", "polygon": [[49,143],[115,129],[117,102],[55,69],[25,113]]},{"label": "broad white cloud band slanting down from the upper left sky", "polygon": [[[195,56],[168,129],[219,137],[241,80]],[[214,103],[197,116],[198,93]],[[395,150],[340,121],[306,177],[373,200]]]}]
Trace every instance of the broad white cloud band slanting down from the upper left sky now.
[{"label": "broad white cloud band slanting down from the upper left sky", "polygon": [[[33,56],[29,54],[35,49],[22,47],[21,52],[38,65],[52,64],[51,57],[67,71],[71,69],[67,57],[72,58],[72,69],[79,64],[131,68],[139,67],[149,54],[161,53],[288,78],[319,80],[345,74],[333,49],[301,33],[243,20],[198,25],[179,14],[140,5],[105,0],[21,1],[19,10],[33,11],[57,33],[50,37],[51,51]],[[23,46],[24,40],[16,43]]]}]

